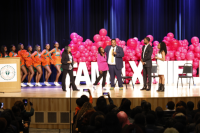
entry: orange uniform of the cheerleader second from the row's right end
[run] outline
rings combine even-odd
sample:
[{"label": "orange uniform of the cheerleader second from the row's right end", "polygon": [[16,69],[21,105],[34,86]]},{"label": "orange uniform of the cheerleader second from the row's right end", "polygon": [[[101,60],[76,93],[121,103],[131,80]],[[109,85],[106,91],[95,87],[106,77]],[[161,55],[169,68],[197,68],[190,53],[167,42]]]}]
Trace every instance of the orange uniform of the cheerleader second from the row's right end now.
[{"label": "orange uniform of the cheerleader second from the row's right end", "polygon": [[42,57],[42,66],[43,67],[51,65],[51,60],[52,60],[51,54],[50,53],[48,54],[47,50],[43,50],[41,57]]}]

